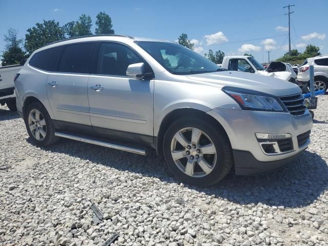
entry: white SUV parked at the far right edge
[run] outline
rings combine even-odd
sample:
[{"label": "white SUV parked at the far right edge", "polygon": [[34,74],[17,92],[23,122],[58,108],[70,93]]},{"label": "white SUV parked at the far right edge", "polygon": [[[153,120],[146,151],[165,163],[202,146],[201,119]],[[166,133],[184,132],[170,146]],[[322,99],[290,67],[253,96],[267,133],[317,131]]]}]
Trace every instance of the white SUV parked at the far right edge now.
[{"label": "white SUV parked at the far right edge", "polygon": [[328,55],[319,55],[308,58],[299,67],[297,79],[299,83],[306,87],[310,87],[310,71],[309,66],[314,66],[314,86],[316,91],[328,89]]}]

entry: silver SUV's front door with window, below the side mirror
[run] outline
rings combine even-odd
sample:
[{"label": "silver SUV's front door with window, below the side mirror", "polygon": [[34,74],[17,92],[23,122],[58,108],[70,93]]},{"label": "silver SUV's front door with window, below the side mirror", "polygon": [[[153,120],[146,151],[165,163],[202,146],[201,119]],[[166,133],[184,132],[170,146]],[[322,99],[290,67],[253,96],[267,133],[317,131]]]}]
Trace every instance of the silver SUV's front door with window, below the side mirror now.
[{"label": "silver SUV's front door with window, below the side mirror", "polygon": [[96,74],[88,83],[90,120],[95,132],[152,141],[154,80],[126,75],[130,64],[144,62],[129,47],[100,45]]}]

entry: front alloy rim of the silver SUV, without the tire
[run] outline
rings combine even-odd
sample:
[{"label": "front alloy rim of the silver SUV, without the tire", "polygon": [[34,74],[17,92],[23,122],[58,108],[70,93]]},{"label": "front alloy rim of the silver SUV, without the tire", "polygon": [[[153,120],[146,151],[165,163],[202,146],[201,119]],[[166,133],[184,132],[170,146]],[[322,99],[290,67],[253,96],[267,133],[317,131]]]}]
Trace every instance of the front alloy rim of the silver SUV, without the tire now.
[{"label": "front alloy rim of the silver SUV, without the tire", "polygon": [[179,130],[171,141],[171,155],[181,172],[204,177],[216,165],[217,152],[212,139],[197,128]]}]

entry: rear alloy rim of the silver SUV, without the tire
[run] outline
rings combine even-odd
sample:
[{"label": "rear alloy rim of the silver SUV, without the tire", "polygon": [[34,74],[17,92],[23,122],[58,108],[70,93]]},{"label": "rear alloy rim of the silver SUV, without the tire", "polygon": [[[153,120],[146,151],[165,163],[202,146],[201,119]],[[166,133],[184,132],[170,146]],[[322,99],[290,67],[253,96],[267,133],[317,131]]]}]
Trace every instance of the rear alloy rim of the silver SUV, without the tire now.
[{"label": "rear alloy rim of the silver SUV, without the tire", "polygon": [[47,134],[46,120],[42,113],[37,109],[33,109],[29,114],[29,128],[36,140],[42,141]]}]

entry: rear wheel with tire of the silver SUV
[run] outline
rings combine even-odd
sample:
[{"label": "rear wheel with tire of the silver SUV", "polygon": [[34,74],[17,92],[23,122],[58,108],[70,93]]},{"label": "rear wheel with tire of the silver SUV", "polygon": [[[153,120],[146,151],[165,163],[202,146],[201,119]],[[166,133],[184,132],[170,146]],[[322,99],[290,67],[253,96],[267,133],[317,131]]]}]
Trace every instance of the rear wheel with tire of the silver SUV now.
[{"label": "rear wheel with tire of the silver SUV", "polygon": [[59,140],[59,137],[55,136],[52,119],[41,103],[35,102],[27,107],[24,112],[24,121],[27,132],[34,144],[50,146]]}]

